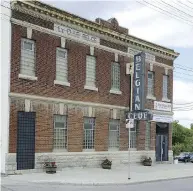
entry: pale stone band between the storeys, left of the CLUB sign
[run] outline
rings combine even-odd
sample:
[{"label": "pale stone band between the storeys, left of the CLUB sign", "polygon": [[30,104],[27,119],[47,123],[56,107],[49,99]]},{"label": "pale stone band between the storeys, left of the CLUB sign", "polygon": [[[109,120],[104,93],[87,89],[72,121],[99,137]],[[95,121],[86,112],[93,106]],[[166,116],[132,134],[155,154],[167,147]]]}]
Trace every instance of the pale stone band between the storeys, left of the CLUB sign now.
[{"label": "pale stone band between the storeys, left of the CLUB sign", "polygon": [[122,110],[129,109],[129,107],[122,107],[118,105],[108,105],[108,104],[101,104],[101,103],[94,103],[94,102],[74,101],[74,100],[43,97],[43,96],[36,96],[36,95],[22,94],[22,93],[13,93],[13,92],[9,93],[9,97],[23,98],[23,99],[29,99],[29,100],[39,100],[39,101],[45,101],[45,102],[57,102],[57,103],[72,104],[72,105],[92,106],[92,107],[100,107],[100,108],[122,109]]}]

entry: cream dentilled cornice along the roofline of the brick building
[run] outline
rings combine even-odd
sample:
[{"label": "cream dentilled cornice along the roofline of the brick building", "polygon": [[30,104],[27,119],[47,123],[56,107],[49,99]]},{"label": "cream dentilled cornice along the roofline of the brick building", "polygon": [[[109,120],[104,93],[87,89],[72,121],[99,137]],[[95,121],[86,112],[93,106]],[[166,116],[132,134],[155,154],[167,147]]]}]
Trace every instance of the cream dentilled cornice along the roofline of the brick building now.
[{"label": "cream dentilled cornice along the roofline of the brick building", "polygon": [[[25,2],[25,3],[26,3],[26,2]],[[26,3],[26,4],[28,4],[28,3]],[[40,7],[38,7],[38,6],[34,5],[34,4],[29,4],[29,5],[32,6],[32,7],[35,7],[35,8],[40,9]],[[34,15],[34,16],[36,16],[36,17],[40,17],[40,18],[42,18],[42,19],[44,19],[44,20],[49,20],[49,21],[52,21],[52,22],[55,22],[55,23],[60,23],[60,24],[63,24],[63,25],[65,25],[65,26],[72,27],[72,28],[74,28],[74,29],[79,29],[79,30],[81,30],[81,31],[85,31],[85,32],[90,33],[90,34],[95,34],[95,35],[97,35],[97,36],[99,36],[99,37],[103,37],[103,38],[105,37],[105,39],[108,39],[108,40],[113,41],[113,42],[115,42],[115,43],[117,42],[117,43],[122,44],[122,45],[128,45],[128,43],[125,43],[125,42],[123,42],[123,41],[120,41],[120,40],[117,40],[117,39],[108,37],[108,36],[103,35],[103,34],[100,34],[100,33],[96,33],[96,32],[91,31],[91,30],[89,30],[89,29],[80,27],[80,26],[78,26],[77,24],[72,24],[72,23],[68,23],[68,22],[65,22],[65,21],[61,21],[60,19],[51,17],[51,16],[49,16],[49,15],[45,15],[45,14],[38,13],[38,12],[32,11],[32,10],[30,10],[30,9],[26,9],[25,7],[20,7],[20,6],[18,6],[18,5],[14,5],[13,8],[16,9],[16,10],[19,10],[20,12],[24,12],[24,13],[27,13],[27,14],[30,13],[31,15]],[[49,11],[49,10],[47,10],[47,9],[44,9],[44,8],[42,8],[42,7],[41,7],[41,10],[48,11],[48,12],[51,13],[51,11]],[[58,16],[63,16],[63,15],[61,15],[61,14],[59,14],[59,13],[57,13],[57,15],[58,15]],[[80,20],[76,20],[76,22],[82,23],[82,21],[80,21]],[[79,24],[79,25],[80,25],[80,24]],[[108,33],[108,32],[109,32],[109,31],[107,30],[106,33]],[[167,55],[164,55],[164,54],[160,54],[159,52],[155,52],[155,51],[147,50],[146,48],[142,48],[142,46],[146,46],[146,47],[149,47],[150,49],[156,49],[156,50],[158,50],[158,51],[161,51],[161,52],[164,52],[164,53],[168,53],[166,50],[163,50],[162,48],[154,47],[154,46],[153,46],[153,45],[159,46],[159,45],[157,45],[157,44],[154,44],[154,43],[151,43],[152,45],[146,44],[146,43],[142,42],[142,41],[144,41],[144,40],[141,39],[142,41],[140,41],[140,39],[138,39],[138,38],[136,38],[136,37],[134,37],[134,36],[131,36],[131,35],[128,36],[128,35],[124,35],[124,34],[118,34],[117,32],[113,32],[113,31],[111,31],[110,33],[111,33],[112,35],[115,35],[115,36],[118,35],[120,38],[128,39],[128,40],[130,40],[130,41],[132,41],[132,42],[135,42],[135,43],[137,43],[137,44],[139,45],[139,46],[135,46],[135,45],[129,44],[129,46],[130,46],[131,48],[136,48],[136,49],[139,49],[139,50],[145,50],[145,51],[148,52],[148,53],[151,53],[151,54],[160,56],[160,57],[162,57],[162,58],[166,58],[166,59],[170,59],[170,60],[174,60],[174,59],[175,59],[175,58],[173,58],[173,57],[171,57],[171,56],[167,56]],[[150,42],[147,42],[147,43],[150,43]],[[163,47],[163,48],[167,49],[166,47]],[[175,52],[173,52],[173,53],[170,52],[170,54],[172,54],[172,55],[174,55],[174,56],[177,56],[177,53],[175,53]]]}]

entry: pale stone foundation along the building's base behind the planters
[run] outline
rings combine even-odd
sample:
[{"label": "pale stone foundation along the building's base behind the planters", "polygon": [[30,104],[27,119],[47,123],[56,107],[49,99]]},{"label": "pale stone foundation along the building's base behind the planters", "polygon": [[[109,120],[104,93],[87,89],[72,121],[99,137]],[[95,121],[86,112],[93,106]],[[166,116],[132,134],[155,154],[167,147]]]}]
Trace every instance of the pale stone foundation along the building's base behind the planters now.
[{"label": "pale stone foundation along the building's base behind the planters", "polygon": [[[141,156],[151,157],[155,162],[155,151],[130,151],[131,163],[140,163]],[[113,151],[113,152],[64,152],[64,153],[36,153],[35,169],[31,170],[16,170],[16,154],[9,153],[6,162],[6,173],[29,173],[42,172],[43,161],[49,156],[55,159],[58,170],[69,167],[100,167],[102,160],[108,158],[112,161],[113,166],[128,164],[128,151]]]}]

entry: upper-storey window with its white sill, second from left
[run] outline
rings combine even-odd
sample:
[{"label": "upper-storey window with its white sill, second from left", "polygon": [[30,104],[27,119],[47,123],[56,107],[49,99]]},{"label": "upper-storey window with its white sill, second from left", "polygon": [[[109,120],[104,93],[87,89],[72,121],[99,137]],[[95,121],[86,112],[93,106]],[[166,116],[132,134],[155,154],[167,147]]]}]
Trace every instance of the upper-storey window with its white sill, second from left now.
[{"label": "upper-storey window with its white sill, second from left", "polygon": [[[60,57],[59,51],[63,52],[66,56]],[[68,51],[60,47],[56,48],[56,79],[54,80],[54,84],[70,86],[68,82]]]}]

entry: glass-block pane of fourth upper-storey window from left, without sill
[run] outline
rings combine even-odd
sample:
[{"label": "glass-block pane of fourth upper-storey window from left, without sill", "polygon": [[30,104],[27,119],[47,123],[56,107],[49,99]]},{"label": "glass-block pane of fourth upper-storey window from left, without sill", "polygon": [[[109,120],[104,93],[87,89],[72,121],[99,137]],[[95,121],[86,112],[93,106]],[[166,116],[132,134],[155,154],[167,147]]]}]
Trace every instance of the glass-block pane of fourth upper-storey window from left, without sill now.
[{"label": "glass-block pane of fourth upper-storey window from left, without sill", "polygon": [[111,66],[111,89],[120,91],[120,64],[116,62]]}]

